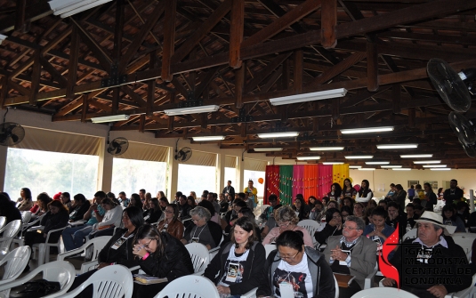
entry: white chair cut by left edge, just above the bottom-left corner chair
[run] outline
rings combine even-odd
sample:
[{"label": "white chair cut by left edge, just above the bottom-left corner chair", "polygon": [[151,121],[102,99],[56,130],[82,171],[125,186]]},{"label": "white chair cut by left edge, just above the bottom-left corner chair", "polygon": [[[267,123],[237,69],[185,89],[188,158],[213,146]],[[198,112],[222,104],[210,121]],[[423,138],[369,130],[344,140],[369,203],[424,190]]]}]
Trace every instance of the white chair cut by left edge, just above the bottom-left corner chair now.
[{"label": "white chair cut by left edge, just above the bottom-left corner chair", "polygon": [[[4,285],[18,278],[28,265],[31,248],[29,246],[20,246],[5,255],[0,261],[0,267],[4,266],[4,276],[0,280],[0,285]],[[10,289],[4,290],[1,294],[5,297],[10,295]]]}]

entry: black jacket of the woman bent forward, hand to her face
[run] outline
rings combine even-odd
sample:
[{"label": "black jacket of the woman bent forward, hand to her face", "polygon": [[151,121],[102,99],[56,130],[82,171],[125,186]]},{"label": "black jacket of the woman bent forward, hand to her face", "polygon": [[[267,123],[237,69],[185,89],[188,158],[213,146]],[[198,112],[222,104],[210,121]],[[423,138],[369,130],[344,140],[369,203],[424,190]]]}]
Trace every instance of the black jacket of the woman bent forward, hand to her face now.
[{"label": "black jacket of the woman bent forward, hand to her face", "polygon": [[150,254],[145,260],[139,259],[141,270],[157,278],[167,278],[169,282],[176,278],[193,274],[193,264],[187,248],[169,233],[161,233],[165,252],[162,257]]}]

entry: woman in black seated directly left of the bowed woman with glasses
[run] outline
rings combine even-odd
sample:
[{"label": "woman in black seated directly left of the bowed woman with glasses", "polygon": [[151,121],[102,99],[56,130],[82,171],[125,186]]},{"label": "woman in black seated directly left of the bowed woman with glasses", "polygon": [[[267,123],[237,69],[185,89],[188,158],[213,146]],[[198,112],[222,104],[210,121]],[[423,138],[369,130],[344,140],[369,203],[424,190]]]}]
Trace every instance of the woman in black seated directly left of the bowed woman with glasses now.
[{"label": "woman in black seated directly left of the bowed woman with glasses", "polygon": [[[144,224],[142,209],[135,206],[125,208],[122,213],[122,222],[124,229],[118,229],[98,254],[98,268],[78,275],[68,292],[76,289],[77,286],[81,286],[94,272],[106,266],[119,264],[132,268],[139,265],[139,260],[133,254],[133,238],[137,230]],[[84,298],[93,297],[93,287],[86,287],[85,291],[78,296]]]}]

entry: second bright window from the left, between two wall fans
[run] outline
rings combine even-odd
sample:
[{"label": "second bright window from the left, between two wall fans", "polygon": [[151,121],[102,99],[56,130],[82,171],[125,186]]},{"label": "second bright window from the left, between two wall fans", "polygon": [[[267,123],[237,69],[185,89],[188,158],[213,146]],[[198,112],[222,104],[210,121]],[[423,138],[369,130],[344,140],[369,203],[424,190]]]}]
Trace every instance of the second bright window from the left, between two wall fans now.
[{"label": "second bright window from the left, between two wall fans", "polygon": [[166,173],[165,162],[114,158],[111,189],[116,197],[121,191],[131,197],[131,194],[139,193],[139,189],[145,189],[152,197],[156,197],[157,191],[166,192]]}]

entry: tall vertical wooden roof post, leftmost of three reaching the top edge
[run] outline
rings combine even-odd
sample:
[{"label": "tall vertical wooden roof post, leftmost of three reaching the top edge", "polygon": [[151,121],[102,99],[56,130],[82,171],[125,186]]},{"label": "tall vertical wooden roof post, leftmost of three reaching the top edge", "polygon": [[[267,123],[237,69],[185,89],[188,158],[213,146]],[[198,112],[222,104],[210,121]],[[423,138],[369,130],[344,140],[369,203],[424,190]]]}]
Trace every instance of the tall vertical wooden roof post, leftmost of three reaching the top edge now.
[{"label": "tall vertical wooden roof post, leftmost of three reaching the top edge", "polygon": [[171,57],[175,47],[175,14],[177,8],[176,0],[165,1],[164,12],[164,50],[162,51],[162,80],[172,81],[170,73]]}]

